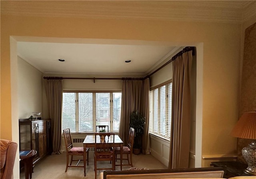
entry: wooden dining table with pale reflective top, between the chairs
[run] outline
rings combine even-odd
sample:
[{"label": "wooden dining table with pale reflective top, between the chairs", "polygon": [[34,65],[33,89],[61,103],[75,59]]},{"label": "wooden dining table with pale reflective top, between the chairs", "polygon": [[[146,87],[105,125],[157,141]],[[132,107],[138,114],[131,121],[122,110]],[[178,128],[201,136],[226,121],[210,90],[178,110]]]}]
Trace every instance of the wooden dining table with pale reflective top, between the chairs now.
[{"label": "wooden dining table with pale reflective top, between the chairs", "polygon": [[[114,141],[113,141],[114,138]],[[100,144],[100,136],[96,136],[96,143]],[[122,170],[122,154],[124,142],[118,135],[114,137],[111,135],[108,141],[110,147],[120,147],[120,169]],[[86,161],[86,148],[94,148],[95,146],[95,135],[87,135],[84,139],[84,162]],[[115,157],[115,156],[114,156]],[[84,176],[86,176],[86,164],[84,163]]]}]

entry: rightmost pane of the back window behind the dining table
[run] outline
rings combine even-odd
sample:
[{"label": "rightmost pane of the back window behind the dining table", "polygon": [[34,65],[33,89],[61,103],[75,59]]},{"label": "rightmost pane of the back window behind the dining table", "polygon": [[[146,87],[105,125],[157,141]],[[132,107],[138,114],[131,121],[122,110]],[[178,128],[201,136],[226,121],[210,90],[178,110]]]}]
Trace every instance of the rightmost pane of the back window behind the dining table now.
[{"label": "rightmost pane of the back window behind the dining table", "polygon": [[113,131],[119,130],[121,114],[121,92],[113,92]]}]

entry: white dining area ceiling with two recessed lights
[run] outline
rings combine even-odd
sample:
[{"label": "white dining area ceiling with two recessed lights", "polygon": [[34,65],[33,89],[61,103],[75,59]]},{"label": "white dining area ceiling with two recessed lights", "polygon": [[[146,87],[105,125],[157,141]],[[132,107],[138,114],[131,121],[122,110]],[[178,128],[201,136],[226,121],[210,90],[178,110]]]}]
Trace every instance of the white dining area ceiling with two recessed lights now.
[{"label": "white dining area ceiling with two recessed lights", "polygon": [[17,43],[17,53],[22,59],[42,73],[59,74],[146,75],[176,49],[170,45]]}]

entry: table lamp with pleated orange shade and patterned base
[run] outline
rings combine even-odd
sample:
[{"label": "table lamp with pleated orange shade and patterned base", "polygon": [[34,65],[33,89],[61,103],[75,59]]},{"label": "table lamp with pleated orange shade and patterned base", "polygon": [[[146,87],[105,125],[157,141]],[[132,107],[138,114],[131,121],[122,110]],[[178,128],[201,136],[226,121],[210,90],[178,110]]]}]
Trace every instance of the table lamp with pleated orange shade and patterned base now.
[{"label": "table lamp with pleated orange shade and patterned base", "polygon": [[242,149],[242,155],[248,164],[245,173],[256,175],[256,112],[245,112],[236,123],[231,135],[237,138],[253,139]]}]

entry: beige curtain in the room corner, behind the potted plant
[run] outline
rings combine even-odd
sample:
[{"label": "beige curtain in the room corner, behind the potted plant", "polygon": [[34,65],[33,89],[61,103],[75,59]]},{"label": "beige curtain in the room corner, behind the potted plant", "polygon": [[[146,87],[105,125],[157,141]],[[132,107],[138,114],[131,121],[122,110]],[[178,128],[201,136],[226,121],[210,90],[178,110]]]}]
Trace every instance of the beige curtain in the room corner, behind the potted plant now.
[{"label": "beige curtain in the room corner, behind the potted plant", "polygon": [[[147,91],[144,94],[144,91]],[[121,102],[121,117],[120,117],[120,126],[119,126],[119,136],[123,140],[124,145],[127,145],[127,140],[129,136],[130,129],[130,114],[134,110],[142,113],[143,116],[146,116],[146,126],[148,126],[148,116],[149,116],[149,79],[143,80],[131,80],[124,79],[122,80],[122,102]],[[148,136],[148,127],[144,130],[144,140],[143,142],[143,151],[144,148],[149,148],[149,136]],[[146,139],[145,139],[146,138]],[[148,149],[149,150],[149,149]]]}]

